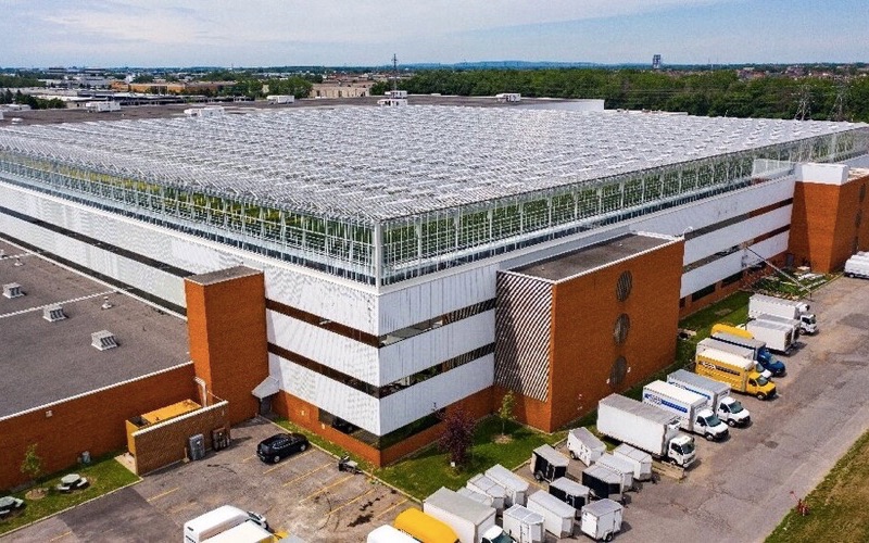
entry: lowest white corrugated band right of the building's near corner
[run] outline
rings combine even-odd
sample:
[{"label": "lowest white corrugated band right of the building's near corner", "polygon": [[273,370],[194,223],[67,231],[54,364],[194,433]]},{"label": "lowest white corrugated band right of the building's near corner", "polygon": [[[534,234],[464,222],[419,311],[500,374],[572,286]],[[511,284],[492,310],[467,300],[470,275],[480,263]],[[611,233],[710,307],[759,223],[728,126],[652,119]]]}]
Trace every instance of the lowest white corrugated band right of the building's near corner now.
[{"label": "lowest white corrugated band right of the building's near corner", "polygon": [[493,372],[494,356],[490,354],[390,394],[380,400],[380,429],[383,433],[391,432],[436,409],[488,389],[492,386]]}]

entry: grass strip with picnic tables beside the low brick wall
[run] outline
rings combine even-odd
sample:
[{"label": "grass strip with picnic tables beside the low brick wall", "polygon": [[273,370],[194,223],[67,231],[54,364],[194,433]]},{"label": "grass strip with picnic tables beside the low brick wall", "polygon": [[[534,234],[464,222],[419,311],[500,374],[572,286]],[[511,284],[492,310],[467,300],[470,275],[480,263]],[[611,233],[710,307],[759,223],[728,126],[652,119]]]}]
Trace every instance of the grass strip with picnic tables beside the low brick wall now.
[{"label": "grass strip with picnic tables beside the low brick wall", "polygon": [[[72,492],[70,494],[61,494],[54,491],[61,477],[67,473],[79,473],[90,481],[90,485],[85,490]],[[15,528],[20,528],[30,522],[62,512],[74,505],[78,505],[88,500],[106,494],[113,490],[126,487],[139,480],[139,477],[130,470],[122,466],[114,459],[113,456],[100,458],[89,466],[79,466],[75,469],[67,469],[60,473],[54,473],[51,478],[43,480],[38,488],[49,489],[48,494],[40,500],[28,500],[25,494],[27,491],[22,491],[13,494],[20,497],[27,504],[26,507],[17,514],[0,520],[0,534],[5,533]]]}]

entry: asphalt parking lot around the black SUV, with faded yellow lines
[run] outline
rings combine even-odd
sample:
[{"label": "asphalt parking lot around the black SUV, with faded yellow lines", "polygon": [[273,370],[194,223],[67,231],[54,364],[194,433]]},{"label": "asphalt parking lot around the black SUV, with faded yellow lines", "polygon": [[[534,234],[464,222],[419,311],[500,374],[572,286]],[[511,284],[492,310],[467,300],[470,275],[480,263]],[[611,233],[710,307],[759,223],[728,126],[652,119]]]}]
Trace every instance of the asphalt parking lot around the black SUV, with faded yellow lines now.
[{"label": "asphalt parking lot around the black SUV, with faded yellow lines", "polygon": [[232,444],[204,459],[150,475],[138,484],[12,533],[4,541],[180,541],[184,523],[231,504],[262,513],[305,541],[364,541],[413,502],[364,475],[339,471],[312,447],[263,464],[256,444],[280,431],[265,420],[232,429]]}]

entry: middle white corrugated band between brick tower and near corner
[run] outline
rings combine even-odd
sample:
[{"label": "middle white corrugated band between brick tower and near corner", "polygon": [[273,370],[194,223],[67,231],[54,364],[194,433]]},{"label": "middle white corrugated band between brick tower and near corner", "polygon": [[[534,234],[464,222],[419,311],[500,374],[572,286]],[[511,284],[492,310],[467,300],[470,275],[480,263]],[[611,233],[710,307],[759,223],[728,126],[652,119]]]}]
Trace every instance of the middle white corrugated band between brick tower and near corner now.
[{"label": "middle white corrugated band between brick tower and near corner", "polygon": [[[266,310],[268,341],[361,381],[380,386],[378,350],[329,330]],[[394,380],[394,379],[393,379]],[[390,381],[387,381],[390,382]]]}]

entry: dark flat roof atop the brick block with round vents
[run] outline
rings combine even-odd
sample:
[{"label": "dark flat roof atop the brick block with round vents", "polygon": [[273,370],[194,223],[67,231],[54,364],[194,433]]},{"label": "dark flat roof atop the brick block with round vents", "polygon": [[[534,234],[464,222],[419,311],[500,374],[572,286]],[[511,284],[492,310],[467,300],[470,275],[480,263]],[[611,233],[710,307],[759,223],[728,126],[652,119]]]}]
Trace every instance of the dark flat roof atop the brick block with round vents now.
[{"label": "dark flat roof atop the brick block with round vents", "polygon": [[672,239],[664,237],[627,233],[545,261],[514,268],[512,272],[557,282],[672,241]]}]

